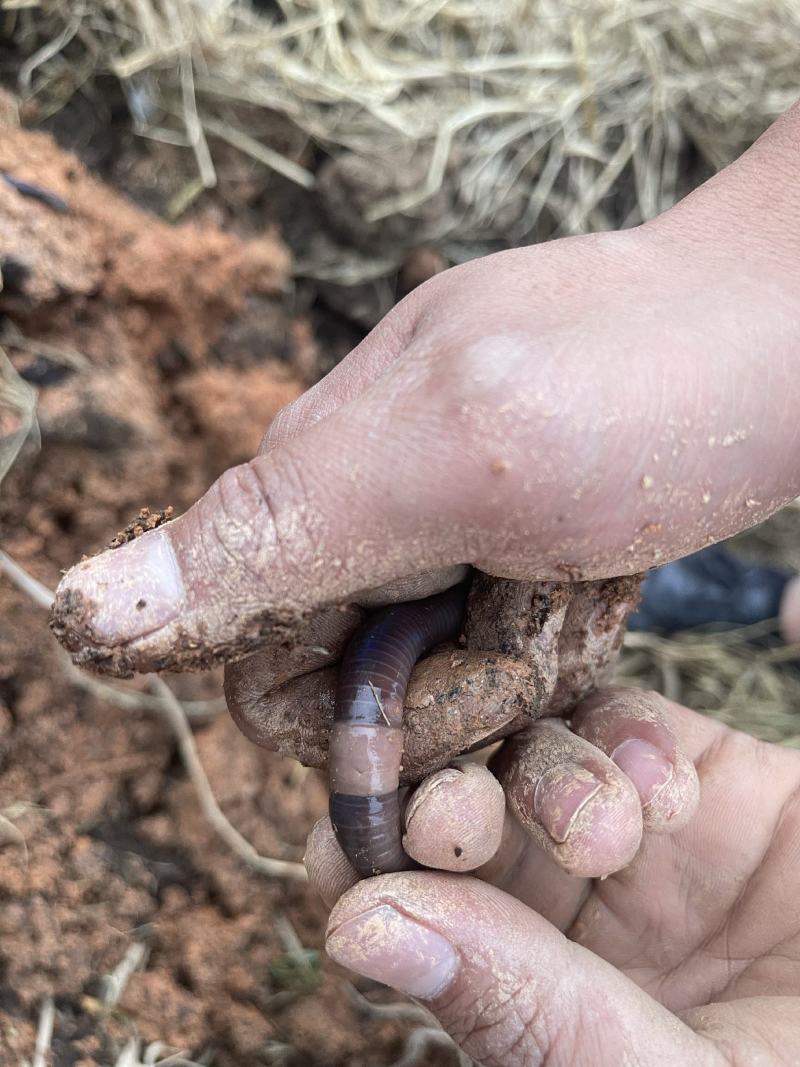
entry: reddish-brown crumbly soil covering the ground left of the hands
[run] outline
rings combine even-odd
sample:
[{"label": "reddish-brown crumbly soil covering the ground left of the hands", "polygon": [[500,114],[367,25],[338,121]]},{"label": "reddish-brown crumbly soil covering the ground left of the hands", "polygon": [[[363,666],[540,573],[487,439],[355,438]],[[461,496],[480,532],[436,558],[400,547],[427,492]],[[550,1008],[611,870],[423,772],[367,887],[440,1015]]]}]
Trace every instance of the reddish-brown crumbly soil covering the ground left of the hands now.
[{"label": "reddish-brown crumbly soil covering the ground left of the hands", "polygon": [[[41,429],[2,485],[0,537],[52,588],[111,531],[135,536],[252,455],[331,348],[287,291],[275,233],[169,226],[43,134],[6,129],[0,169],[69,206],[0,184],[0,256],[16,264],[0,330],[37,388]],[[2,576],[0,605],[0,1063],[33,1058],[48,996],[49,1067],[114,1064],[131,1037],[215,1067],[398,1061],[420,1022],[357,999],[321,952],[322,903],[230,854],[160,718],[76,686],[47,611]],[[219,670],[171,684],[186,700],[222,691]],[[234,825],[299,860],[326,808],[317,773],[257,748],[223,711],[195,736]],[[146,960],[108,1003],[103,976],[139,944]],[[417,1062],[455,1061],[432,1046]]]}]

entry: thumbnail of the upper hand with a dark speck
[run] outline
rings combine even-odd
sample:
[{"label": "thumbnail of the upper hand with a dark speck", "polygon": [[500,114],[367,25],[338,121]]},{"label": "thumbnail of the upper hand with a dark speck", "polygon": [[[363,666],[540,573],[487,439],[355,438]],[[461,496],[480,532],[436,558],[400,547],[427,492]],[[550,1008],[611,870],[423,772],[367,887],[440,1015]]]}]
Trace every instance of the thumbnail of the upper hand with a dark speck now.
[{"label": "thumbnail of the upper hand with a dark speck", "polygon": [[165,530],[103,552],[74,567],[58,598],[77,594],[86,608],[75,628],[102,644],[118,644],[160,630],[177,618],[183,582]]}]

